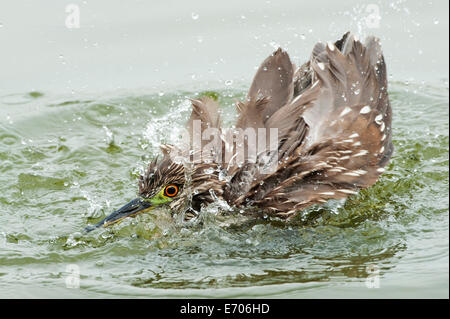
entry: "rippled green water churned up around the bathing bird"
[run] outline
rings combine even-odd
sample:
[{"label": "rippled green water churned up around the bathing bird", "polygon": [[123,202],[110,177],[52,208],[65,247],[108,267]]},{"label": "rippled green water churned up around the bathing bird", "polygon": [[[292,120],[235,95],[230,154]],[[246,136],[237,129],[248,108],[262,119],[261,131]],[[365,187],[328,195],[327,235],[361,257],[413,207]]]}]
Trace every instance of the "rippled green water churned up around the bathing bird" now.
[{"label": "rippled green water churned up around the bathing bird", "polygon": [[[225,124],[244,88],[216,91]],[[87,235],[134,198],[196,93],[1,96],[0,297],[448,298],[448,82],[390,94],[392,161],[345,203],[291,224],[235,223],[216,206],[188,228],[158,210]]]}]

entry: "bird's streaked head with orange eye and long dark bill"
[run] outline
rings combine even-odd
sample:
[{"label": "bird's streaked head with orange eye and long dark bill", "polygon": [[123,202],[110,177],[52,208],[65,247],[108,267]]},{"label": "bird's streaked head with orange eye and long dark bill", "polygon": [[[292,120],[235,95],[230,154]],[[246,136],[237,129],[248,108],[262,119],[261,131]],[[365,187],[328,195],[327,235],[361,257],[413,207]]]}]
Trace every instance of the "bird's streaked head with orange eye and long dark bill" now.
[{"label": "bird's streaked head with orange eye and long dark bill", "polygon": [[139,196],[85,230],[89,232],[101,226],[108,227],[124,218],[135,217],[160,206],[169,206],[172,210],[179,211],[187,203],[185,180],[182,164],[177,164],[166,156],[161,161],[155,159],[139,179]]}]

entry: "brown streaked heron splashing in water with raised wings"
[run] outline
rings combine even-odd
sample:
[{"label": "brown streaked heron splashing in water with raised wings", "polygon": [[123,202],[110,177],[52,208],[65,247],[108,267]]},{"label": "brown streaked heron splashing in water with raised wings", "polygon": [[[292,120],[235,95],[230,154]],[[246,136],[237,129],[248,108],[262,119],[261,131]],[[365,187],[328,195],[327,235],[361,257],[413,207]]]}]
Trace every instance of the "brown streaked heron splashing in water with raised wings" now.
[{"label": "brown streaked heron splashing in water with raised wings", "polygon": [[162,145],[139,177],[138,197],[86,231],[162,206],[189,222],[218,200],[289,220],[370,187],[393,154],[386,63],[374,36],[318,42],[300,67],[278,48],[236,102],[231,128],[221,125],[217,99],[190,101],[189,140]]}]

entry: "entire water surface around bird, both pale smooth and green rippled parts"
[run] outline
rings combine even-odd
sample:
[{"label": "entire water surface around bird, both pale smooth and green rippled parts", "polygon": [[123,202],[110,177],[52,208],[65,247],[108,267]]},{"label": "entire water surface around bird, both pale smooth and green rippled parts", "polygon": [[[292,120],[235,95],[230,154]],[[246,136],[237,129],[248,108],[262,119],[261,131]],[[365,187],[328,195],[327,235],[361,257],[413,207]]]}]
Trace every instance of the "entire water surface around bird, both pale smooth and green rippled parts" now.
[{"label": "entire water surface around bird, both pale smooth and green rippled parts", "polygon": [[[144,55],[131,61],[152,45],[141,46],[142,34],[131,32],[141,30],[140,22],[132,25],[127,18],[129,23],[119,28],[118,3],[102,8],[80,2],[81,9],[90,8],[80,33],[71,30],[73,38],[67,39],[63,33],[69,31],[39,22],[43,31],[35,31],[37,38],[30,37],[28,44],[14,44],[14,35],[37,20],[24,18],[28,24],[19,27],[0,16],[0,37],[6,41],[6,51],[0,52],[0,297],[448,298],[448,42],[427,45],[439,43],[439,35],[429,30],[448,28],[448,16],[436,4],[380,3],[380,29],[358,30],[355,17],[364,8],[334,3],[307,7],[322,12],[319,20],[329,25],[324,30],[299,4],[291,9],[303,8],[298,10],[301,23],[287,3],[265,2],[258,9],[231,3],[233,9],[218,8],[220,13],[206,4],[181,6],[176,13],[162,4],[145,7],[155,19],[159,10],[175,23],[152,42],[161,44],[159,54],[166,54],[167,64]],[[30,9],[33,5],[28,3]],[[61,11],[61,21],[50,24],[64,23],[64,8],[43,6]],[[136,2],[133,10],[144,12],[142,6]],[[256,18],[261,12],[268,17]],[[94,13],[102,23],[83,29],[83,23],[93,23]],[[217,15],[213,31],[200,33]],[[144,17],[135,18],[142,22]],[[272,41],[288,45],[299,62],[319,38],[340,33],[333,26],[347,29],[349,23],[361,34],[382,38],[391,74],[395,153],[377,184],[345,203],[308,210],[302,223],[242,223],[217,215],[219,207],[212,207],[203,226],[179,228],[168,211],[156,210],[110,229],[81,233],[134,198],[137,176],[158,154],[158,144],[175,140],[187,120],[187,98],[213,91],[229,125],[234,101],[245,95],[253,67],[272,50]],[[287,36],[289,27],[298,30]],[[111,28],[127,36],[116,43],[105,35]],[[237,29],[245,31],[242,36]],[[406,30],[414,37],[398,35]],[[87,49],[71,42],[80,37],[83,43],[83,36],[92,42]],[[164,37],[173,41],[159,42]],[[43,39],[43,47],[34,42]],[[53,44],[47,42],[52,39]],[[247,43],[245,53],[235,55],[231,40]],[[410,46],[416,41],[424,44]],[[38,63],[41,58],[25,51],[25,45],[53,54],[52,62],[46,55]],[[117,50],[102,62],[97,57],[107,47]],[[186,59],[180,66],[173,49],[182,47]],[[5,63],[7,58],[12,62]],[[111,61],[123,64],[111,69]],[[373,275],[379,288],[369,289]],[[70,288],[78,277],[79,288]]]}]

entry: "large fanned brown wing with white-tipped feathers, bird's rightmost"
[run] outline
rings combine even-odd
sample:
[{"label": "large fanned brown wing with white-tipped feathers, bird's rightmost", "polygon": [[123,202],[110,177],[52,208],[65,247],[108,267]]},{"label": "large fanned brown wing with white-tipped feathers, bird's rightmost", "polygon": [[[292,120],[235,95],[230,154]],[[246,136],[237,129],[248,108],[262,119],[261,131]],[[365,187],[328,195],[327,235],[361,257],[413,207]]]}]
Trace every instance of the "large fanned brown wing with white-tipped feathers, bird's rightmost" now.
[{"label": "large fanned brown wing with white-tipped feathers, bird's rightmost", "polygon": [[[304,121],[299,126],[307,131],[300,135],[304,138],[279,159],[275,172],[259,175],[234,204],[253,203],[289,217],[312,204],[354,194],[384,171],[393,146],[378,39],[370,37],[363,45],[348,35],[340,48],[318,44],[309,63],[312,84],[267,123],[282,127],[289,120],[295,125]],[[294,121],[297,116],[302,120]]]}]

